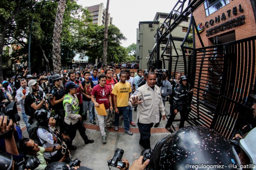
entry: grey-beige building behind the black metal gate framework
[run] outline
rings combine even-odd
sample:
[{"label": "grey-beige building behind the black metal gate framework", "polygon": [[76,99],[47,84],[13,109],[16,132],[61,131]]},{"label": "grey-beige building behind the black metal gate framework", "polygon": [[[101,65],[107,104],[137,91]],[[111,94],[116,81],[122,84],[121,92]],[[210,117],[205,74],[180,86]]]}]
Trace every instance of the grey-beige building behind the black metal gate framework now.
[{"label": "grey-beige building behind the black metal gate framework", "polygon": [[[156,35],[157,29],[160,27],[160,25],[162,25],[167,16],[168,13],[157,12],[153,21],[139,22],[139,28],[137,29],[136,59],[140,61],[140,68],[142,69],[148,69],[147,63],[150,57],[150,52],[156,45],[154,36]],[[178,55],[182,55],[180,44],[188,31],[189,22],[190,18],[187,18],[187,20],[182,21],[182,23],[180,23],[180,25],[178,25],[172,32],[172,38],[174,40],[174,45]],[[165,41],[160,44],[160,55],[163,53],[164,48],[166,47],[166,41],[168,38],[169,35],[165,38]],[[171,55],[176,55],[174,45],[172,43],[167,45],[166,51],[163,53],[164,55],[162,55],[164,59],[168,60],[168,57]]]}]

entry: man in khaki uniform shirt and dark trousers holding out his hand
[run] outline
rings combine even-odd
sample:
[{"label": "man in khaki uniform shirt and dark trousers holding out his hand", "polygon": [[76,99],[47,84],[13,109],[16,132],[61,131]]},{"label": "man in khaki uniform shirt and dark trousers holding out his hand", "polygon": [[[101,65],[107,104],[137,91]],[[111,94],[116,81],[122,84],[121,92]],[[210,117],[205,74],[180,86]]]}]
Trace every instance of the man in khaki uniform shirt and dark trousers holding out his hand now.
[{"label": "man in khaki uniform shirt and dark trousers holding out his hand", "polygon": [[130,97],[130,105],[138,105],[138,127],[140,131],[140,145],[150,149],[150,129],[154,123],[160,121],[160,114],[165,120],[164,104],[160,87],[156,86],[156,74],[149,72],[146,76],[147,83],[139,87]]}]

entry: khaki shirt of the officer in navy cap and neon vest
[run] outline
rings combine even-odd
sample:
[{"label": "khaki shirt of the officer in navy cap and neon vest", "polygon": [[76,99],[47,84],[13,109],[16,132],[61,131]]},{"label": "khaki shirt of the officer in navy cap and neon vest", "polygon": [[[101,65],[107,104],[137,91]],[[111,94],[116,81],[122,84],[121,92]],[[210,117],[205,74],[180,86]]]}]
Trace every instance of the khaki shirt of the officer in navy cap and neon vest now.
[{"label": "khaki shirt of the officer in navy cap and neon vest", "polygon": [[[71,94],[68,93],[68,96],[74,99],[73,105],[78,107],[79,103],[75,100],[75,98],[77,99],[76,95],[72,96]],[[72,105],[70,105],[68,102],[64,104],[64,109],[65,109],[65,118],[64,118],[65,123],[67,123],[68,125],[70,125],[71,123],[72,125],[76,124],[78,122],[78,119],[80,118],[80,115],[72,113]]]}]

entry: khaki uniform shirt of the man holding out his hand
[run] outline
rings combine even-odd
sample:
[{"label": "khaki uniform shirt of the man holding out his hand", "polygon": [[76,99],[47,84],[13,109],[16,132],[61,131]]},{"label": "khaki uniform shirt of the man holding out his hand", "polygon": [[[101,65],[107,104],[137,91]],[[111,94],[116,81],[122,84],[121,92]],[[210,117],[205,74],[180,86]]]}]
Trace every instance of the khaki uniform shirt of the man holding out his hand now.
[{"label": "khaki uniform shirt of the man holding out his hand", "polygon": [[154,90],[144,84],[140,86],[134,94],[130,97],[129,101],[133,96],[138,96],[140,101],[143,103],[138,104],[138,115],[137,120],[139,119],[140,123],[149,124],[149,123],[158,123],[159,122],[159,112],[162,115],[165,115],[164,104],[162,101],[161,91],[158,86],[155,85]]}]

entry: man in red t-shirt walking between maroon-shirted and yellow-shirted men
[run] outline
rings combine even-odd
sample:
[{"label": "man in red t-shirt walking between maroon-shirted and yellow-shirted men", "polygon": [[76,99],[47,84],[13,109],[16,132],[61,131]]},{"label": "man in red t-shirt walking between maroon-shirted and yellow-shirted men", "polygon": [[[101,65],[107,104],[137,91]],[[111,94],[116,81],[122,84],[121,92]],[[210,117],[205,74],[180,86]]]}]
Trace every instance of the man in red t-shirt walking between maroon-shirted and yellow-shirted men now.
[{"label": "man in red t-shirt walking between maroon-shirted and yellow-shirted men", "polygon": [[[112,74],[113,74],[112,70],[110,69],[105,70],[105,75],[107,76],[106,85],[109,86],[111,92],[114,88],[114,85],[118,83],[117,80],[112,77]],[[112,104],[114,107],[114,101],[113,101],[114,94],[112,93],[111,93],[111,98],[112,98]],[[108,119],[106,121],[108,128],[111,128],[110,121],[115,122],[115,109],[113,109],[112,111],[109,111],[108,113]]]}]

